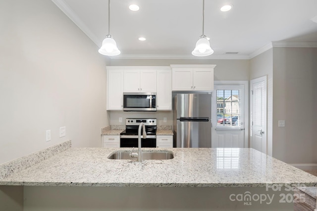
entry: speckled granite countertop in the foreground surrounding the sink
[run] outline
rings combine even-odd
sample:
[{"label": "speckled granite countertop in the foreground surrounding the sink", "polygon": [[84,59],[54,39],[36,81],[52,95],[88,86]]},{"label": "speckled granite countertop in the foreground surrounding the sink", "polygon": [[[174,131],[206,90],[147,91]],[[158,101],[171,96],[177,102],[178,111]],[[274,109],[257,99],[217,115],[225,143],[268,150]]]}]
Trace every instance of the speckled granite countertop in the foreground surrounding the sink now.
[{"label": "speckled granite countertop in the foreground surrounding the sink", "polygon": [[139,163],[107,159],[117,150],[71,148],[1,179],[0,185],[265,187],[267,183],[301,183],[317,186],[316,176],[253,149],[171,148],[168,150],[174,153],[174,158],[169,160]]}]

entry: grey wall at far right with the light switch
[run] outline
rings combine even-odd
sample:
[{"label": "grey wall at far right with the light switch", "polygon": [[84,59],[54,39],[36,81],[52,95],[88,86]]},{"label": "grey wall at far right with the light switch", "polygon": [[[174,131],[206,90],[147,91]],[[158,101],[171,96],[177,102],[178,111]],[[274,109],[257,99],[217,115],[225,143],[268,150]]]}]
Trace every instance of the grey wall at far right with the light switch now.
[{"label": "grey wall at far right with the light switch", "polygon": [[317,48],[273,48],[273,156],[287,163],[317,164],[316,58]]}]

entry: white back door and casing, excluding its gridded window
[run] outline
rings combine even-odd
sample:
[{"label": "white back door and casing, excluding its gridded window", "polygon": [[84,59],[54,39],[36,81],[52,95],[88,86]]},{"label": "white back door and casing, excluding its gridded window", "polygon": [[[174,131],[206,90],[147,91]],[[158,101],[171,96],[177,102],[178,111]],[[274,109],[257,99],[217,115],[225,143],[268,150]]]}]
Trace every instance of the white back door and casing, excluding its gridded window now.
[{"label": "white back door and casing, excluding its gridded window", "polygon": [[[212,148],[244,148],[248,147],[248,81],[215,81],[212,93]],[[217,90],[239,90],[240,116],[239,125],[217,125]],[[245,130],[246,128],[246,130]]]}]

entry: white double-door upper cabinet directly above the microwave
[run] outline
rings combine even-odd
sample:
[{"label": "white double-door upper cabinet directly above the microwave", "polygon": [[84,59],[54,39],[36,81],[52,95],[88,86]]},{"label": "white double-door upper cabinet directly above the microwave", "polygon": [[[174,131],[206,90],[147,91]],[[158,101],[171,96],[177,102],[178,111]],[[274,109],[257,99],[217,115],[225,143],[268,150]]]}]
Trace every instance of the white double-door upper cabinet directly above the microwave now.
[{"label": "white double-door upper cabinet directly above the microwave", "polygon": [[157,72],[151,67],[125,67],[124,92],[156,92]]}]

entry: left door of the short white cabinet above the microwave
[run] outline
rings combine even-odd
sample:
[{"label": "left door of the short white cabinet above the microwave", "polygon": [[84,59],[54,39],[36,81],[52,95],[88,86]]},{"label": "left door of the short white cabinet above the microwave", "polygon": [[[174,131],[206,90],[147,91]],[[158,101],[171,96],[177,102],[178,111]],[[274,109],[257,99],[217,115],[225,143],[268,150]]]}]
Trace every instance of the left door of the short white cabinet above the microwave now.
[{"label": "left door of the short white cabinet above the microwave", "polygon": [[140,70],[124,70],[124,92],[140,92]]}]

